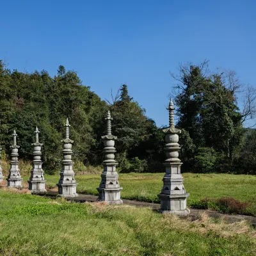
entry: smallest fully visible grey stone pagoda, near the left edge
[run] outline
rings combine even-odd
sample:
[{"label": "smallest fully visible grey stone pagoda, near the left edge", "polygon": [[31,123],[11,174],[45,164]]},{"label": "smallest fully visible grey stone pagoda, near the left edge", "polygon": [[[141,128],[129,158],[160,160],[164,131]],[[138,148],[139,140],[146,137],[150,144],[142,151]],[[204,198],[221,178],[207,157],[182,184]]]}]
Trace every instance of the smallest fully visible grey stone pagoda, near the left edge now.
[{"label": "smallest fully visible grey stone pagoda, near the left edge", "polygon": [[20,146],[17,145],[16,137],[17,133],[13,132],[13,145],[10,146],[12,148],[12,154],[11,154],[11,167],[9,170],[9,174],[7,177],[7,186],[9,188],[22,188],[20,177],[20,169],[19,169],[19,160],[18,160],[18,148]]}]

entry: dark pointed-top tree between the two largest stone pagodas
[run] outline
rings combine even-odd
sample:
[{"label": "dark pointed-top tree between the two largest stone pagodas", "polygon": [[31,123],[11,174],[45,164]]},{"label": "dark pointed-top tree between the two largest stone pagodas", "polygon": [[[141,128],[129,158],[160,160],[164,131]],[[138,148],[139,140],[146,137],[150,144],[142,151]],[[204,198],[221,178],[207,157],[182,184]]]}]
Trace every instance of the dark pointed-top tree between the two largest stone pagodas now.
[{"label": "dark pointed-top tree between the two largest stone pagodas", "polygon": [[[109,102],[113,117],[112,130],[117,136],[116,158],[122,171],[150,170],[161,171],[159,162],[163,159],[163,132],[145,115],[141,108],[129,95],[127,85],[123,84],[113,102]],[[145,165],[147,161],[147,166]],[[138,164],[141,167],[138,168]]]}]

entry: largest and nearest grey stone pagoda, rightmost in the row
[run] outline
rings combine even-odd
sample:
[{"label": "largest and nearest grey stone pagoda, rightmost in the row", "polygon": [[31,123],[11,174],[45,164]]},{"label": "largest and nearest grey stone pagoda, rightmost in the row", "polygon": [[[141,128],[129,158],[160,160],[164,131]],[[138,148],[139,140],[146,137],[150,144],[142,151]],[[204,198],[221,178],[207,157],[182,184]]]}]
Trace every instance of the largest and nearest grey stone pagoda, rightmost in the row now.
[{"label": "largest and nearest grey stone pagoda, rightmost in the row", "polygon": [[180,163],[179,159],[179,135],[180,130],[174,126],[174,105],[172,99],[167,108],[169,110],[169,125],[170,127],[164,129],[165,134],[165,147],[166,160],[164,161],[165,175],[163,177],[163,189],[159,195],[161,200],[160,212],[174,213],[180,216],[186,216],[189,214],[187,209],[187,198],[189,196],[186,193],[183,185],[183,177],[180,174]]}]

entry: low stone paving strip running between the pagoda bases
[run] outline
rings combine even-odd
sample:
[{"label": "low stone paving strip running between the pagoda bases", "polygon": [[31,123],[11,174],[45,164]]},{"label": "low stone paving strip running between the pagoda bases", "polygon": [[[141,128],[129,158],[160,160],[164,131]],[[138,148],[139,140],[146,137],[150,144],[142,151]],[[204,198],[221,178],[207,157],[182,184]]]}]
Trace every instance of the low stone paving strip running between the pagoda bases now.
[{"label": "low stone paving strip running between the pagoda bases", "polygon": [[[38,195],[47,195],[47,196],[56,196],[57,192],[54,190],[49,190],[45,194],[38,194]],[[97,202],[98,196],[94,195],[84,195],[84,194],[78,194],[76,198],[66,198],[67,200],[72,200],[74,202]],[[136,200],[128,200],[128,199],[122,199],[124,204],[128,205],[135,205],[137,207],[150,207],[152,208],[153,211],[158,211],[160,209],[160,204],[156,203],[148,203],[148,202],[141,202],[141,201],[136,201]],[[211,210],[202,210],[202,209],[195,209],[195,208],[189,208],[190,209],[190,214],[189,218],[191,220],[195,220],[196,217],[204,212],[211,218],[222,218],[223,220],[227,221],[228,223],[234,223],[238,221],[243,221],[246,220],[250,222],[253,227],[256,227],[256,217],[253,216],[247,216],[247,215],[232,215],[232,214],[224,214],[221,212],[217,211],[211,211]]]}]

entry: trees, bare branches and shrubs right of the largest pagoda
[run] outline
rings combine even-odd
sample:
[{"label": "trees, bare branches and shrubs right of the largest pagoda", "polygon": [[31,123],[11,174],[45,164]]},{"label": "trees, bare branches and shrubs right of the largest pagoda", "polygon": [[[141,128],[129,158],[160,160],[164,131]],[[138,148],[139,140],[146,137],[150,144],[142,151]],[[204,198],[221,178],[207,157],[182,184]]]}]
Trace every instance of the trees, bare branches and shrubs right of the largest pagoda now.
[{"label": "trees, bare branches and shrubs right of the largest pagoda", "polygon": [[256,174],[256,130],[243,128],[255,117],[255,88],[243,86],[235,72],[210,72],[208,61],[181,65],[172,77],[178,82],[173,97],[182,129],[182,168]]}]

